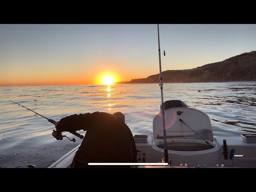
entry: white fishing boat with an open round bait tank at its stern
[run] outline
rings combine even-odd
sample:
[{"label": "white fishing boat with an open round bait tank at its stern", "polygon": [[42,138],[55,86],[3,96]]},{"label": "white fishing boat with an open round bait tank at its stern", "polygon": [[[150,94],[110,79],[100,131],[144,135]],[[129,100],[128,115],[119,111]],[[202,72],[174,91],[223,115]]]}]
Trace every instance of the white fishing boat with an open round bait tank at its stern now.
[{"label": "white fishing boat with an open round bait tank at its stern", "polygon": [[[153,119],[153,135],[134,135],[138,152],[137,160],[140,163],[159,163],[164,157],[161,106],[159,113]],[[164,109],[170,164],[162,167],[256,168],[255,134],[215,137],[212,133],[210,118],[204,112],[190,108],[180,100],[164,102]],[[79,146],[54,162],[49,168],[69,168]]]}]

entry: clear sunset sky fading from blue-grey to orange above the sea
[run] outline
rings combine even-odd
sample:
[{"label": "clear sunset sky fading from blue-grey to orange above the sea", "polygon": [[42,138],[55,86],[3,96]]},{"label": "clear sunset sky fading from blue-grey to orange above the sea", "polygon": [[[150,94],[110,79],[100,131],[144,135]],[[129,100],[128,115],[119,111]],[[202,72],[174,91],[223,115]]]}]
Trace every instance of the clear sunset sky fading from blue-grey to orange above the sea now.
[{"label": "clear sunset sky fading from blue-grey to orange above the sea", "polygon": [[[255,24],[160,24],[162,70],[256,50]],[[100,84],[159,73],[156,24],[1,24],[0,86]]]}]

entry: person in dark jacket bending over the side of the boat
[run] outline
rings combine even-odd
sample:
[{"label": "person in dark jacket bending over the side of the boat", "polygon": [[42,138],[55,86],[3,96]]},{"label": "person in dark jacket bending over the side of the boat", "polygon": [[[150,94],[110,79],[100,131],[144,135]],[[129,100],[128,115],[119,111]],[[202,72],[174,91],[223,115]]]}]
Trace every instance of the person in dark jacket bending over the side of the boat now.
[{"label": "person in dark jacket bending over the side of the boat", "polygon": [[[124,123],[124,114],[105,112],[74,114],[55,124],[59,140],[61,132],[86,131],[72,162],[72,168],[90,167],[90,162],[137,162],[137,150],[130,128]],[[100,167],[100,166],[98,166]],[[104,167],[104,166],[101,166]],[[112,167],[112,166],[110,166]]]}]

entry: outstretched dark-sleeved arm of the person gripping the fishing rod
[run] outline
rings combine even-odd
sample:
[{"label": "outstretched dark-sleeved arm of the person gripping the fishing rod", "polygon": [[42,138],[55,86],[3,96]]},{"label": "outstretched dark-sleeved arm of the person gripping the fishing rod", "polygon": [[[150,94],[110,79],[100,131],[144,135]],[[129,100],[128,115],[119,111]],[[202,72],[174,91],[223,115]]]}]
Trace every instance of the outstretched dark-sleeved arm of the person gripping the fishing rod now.
[{"label": "outstretched dark-sleeved arm of the person gripping the fishing rod", "polygon": [[90,113],[86,114],[74,114],[62,118],[56,125],[57,132],[76,132],[78,130],[86,130],[87,126],[90,125],[91,117]]}]

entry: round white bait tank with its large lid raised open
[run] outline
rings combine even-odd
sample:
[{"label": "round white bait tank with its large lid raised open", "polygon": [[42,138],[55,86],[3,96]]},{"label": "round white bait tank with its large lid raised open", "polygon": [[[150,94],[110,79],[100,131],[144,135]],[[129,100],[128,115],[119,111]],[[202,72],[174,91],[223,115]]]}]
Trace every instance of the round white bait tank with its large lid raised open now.
[{"label": "round white bait tank with its large lid raised open", "polygon": [[[214,142],[210,118],[202,111],[188,108],[180,100],[166,101],[164,107],[168,156],[172,166],[198,166],[202,162],[207,166],[216,166],[216,162],[220,162],[220,146]],[[151,154],[141,150],[145,159],[160,162],[159,156],[163,157],[164,153],[163,136],[160,108],[153,120],[153,137],[148,139]],[[145,148],[138,143],[136,146]]]}]

